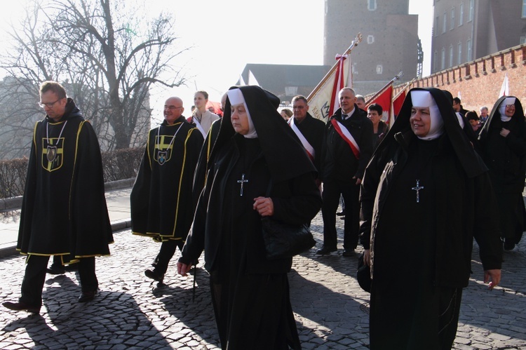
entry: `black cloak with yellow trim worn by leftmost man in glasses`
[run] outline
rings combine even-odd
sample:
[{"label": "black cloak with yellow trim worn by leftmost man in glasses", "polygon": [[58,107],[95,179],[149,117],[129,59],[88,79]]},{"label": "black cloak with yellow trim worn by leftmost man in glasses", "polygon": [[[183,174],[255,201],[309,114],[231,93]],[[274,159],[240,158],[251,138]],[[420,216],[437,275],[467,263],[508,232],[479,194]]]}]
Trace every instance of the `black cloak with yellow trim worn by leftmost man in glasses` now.
[{"label": "black cloak with yellow trim worn by leftmost man in glasses", "polygon": [[28,255],[109,255],[113,243],[93,127],[67,99],[64,116],[34,127],[17,249]]}]

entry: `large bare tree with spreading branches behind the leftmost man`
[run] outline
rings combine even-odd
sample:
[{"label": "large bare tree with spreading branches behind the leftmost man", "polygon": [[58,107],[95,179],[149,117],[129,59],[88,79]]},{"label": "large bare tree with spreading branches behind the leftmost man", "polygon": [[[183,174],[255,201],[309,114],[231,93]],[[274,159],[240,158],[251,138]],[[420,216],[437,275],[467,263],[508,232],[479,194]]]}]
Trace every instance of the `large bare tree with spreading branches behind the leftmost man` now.
[{"label": "large bare tree with spreading branches behind the leftmost man", "polygon": [[[38,99],[42,81],[64,83],[106,150],[142,146],[151,114],[149,88],[184,83],[171,66],[187,50],[173,48],[173,18],[161,13],[148,20],[140,5],[130,2],[34,0],[20,29],[11,32],[13,50],[2,59],[14,79],[10,83],[24,86],[24,100]],[[20,106],[13,98],[0,97],[0,104]],[[39,113],[34,102],[27,111],[33,123]],[[7,119],[0,114],[1,128]]]}]

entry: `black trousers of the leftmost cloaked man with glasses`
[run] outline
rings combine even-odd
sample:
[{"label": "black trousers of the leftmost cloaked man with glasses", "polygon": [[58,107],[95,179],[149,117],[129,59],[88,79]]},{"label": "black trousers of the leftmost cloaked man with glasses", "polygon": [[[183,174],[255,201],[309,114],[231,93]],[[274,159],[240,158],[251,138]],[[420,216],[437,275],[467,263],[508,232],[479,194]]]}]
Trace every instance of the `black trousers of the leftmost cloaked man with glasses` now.
[{"label": "black trousers of the leftmost cloaked man with glasses", "polygon": [[[48,261],[48,255],[29,255],[27,257],[20,302],[25,302],[34,307],[42,304],[42,290],[46,281]],[[95,257],[82,257],[80,259],[79,278],[83,292],[91,292],[98,288]]]}]

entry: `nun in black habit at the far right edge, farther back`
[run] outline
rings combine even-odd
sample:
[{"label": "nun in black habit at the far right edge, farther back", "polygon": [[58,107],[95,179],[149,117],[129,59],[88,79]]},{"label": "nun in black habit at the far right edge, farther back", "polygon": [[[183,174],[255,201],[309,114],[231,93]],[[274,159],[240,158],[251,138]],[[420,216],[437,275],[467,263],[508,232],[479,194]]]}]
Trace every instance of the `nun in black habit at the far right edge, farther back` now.
[{"label": "nun in black habit at the far right edge, farther back", "polygon": [[[493,189],[499,203],[504,249],[519,243],[525,229],[522,199],[526,174],[526,126],[522,105],[513,96],[501,97],[480,130],[482,156],[490,168]],[[481,215],[492,214],[484,210]]]}]

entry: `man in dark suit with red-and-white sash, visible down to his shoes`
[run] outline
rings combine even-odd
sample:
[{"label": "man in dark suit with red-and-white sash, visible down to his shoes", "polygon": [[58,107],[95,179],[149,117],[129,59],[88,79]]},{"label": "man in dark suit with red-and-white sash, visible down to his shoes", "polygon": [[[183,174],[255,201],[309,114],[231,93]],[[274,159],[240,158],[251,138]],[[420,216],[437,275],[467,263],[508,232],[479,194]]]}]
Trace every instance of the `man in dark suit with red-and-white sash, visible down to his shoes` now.
[{"label": "man in dark suit with red-and-white sash, visible down to his shoes", "polygon": [[350,257],[358,244],[360,226],[360,184],[372,155],[372,122],[356,105],[351,88],[339,91],[340,108],[325,126],[322,150],[323,247],[319,255],[337,250],[336,210],[339,196],[345,202],[344,257]]}]

